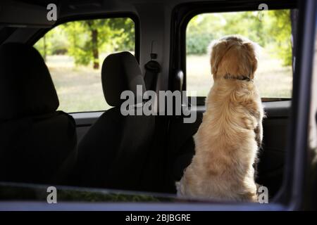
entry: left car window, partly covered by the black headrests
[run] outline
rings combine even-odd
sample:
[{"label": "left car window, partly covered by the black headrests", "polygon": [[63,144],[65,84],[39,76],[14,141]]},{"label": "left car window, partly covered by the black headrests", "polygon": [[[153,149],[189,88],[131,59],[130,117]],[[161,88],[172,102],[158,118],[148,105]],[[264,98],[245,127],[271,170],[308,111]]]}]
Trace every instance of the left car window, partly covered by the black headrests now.
[{"label": "left car window, partly covered by the black headrests", "polygon": [[135,53],[135,23],[130,18],[80,20],[54,27],[35,48],[44,57],[67,113],[107,110],[101,65],[110,53]]}]

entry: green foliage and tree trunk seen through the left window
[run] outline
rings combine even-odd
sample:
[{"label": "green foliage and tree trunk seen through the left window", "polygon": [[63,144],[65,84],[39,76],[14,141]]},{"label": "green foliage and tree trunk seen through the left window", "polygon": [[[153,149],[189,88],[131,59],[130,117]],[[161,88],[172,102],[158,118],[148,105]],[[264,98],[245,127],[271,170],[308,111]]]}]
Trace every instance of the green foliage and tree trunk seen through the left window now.
[{"label": "green foliage and tree trunk seen through the left window", "polygon": [[130,18],[82,20],[59,25],[37,41],[35,48],[47,55],[73,56],[75,65],[99,68],[99,52],[134,51],[135,25]]}]

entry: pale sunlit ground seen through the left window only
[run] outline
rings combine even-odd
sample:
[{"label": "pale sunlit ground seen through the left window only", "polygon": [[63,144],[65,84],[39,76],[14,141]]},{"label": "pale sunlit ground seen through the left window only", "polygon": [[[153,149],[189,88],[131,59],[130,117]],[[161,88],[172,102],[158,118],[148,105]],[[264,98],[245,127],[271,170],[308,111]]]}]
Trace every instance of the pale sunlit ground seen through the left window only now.
[{"label": "pale sunlit ground seen through the left window only", "polygon": [[58,110],[75,113],[111,108],[104,99],[101,70],[75,67],[68,56],[49,56],[47,65],[59,98]]}]

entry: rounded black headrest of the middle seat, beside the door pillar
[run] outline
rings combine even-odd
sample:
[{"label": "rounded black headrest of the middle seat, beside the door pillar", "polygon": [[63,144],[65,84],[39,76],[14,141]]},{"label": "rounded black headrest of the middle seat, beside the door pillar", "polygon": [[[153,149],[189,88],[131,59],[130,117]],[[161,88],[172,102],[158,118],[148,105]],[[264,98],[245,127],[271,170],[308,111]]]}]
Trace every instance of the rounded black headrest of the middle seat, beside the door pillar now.
[{"label": "rounded black headrest of the middle seat, beside the door pillar", "polygon": [[144,79],[139,64],[128,51],[107,56],[101,69],[102,88],[106,102],[118,106],[124,100],[120,95],[125,90],[132,91],[137,96],[137,85],[142,85],[142,95],[145,89]]}]

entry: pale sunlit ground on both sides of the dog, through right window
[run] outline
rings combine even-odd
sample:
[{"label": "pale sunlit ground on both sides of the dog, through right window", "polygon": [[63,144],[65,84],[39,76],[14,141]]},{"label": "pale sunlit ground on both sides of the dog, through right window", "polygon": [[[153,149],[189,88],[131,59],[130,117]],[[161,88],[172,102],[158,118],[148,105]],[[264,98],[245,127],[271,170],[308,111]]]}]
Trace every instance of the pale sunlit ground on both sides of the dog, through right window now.
[{"label": "pale sunlit ground on both sides of the dog, through right window", "polygon": [[[187,56],[187,91],[197,91],[197,96],[207,96],[213,84],[209,56]],[[259,58],[254,82],[262,98],[291,98],[292,68],[282,66],[273,53],[264,51]]]}]

